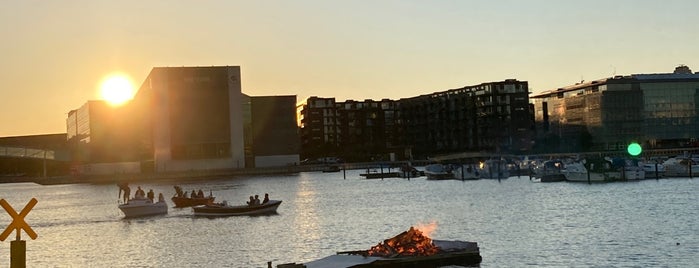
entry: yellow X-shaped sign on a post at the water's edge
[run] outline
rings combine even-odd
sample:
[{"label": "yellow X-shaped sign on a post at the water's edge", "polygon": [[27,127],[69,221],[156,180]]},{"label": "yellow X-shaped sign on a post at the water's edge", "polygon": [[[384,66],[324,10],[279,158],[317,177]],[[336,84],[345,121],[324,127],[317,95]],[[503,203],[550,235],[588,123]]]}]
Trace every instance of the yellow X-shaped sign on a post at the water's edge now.
[{"label": "yellow X-shaped sign on a post at the water's edge", "polygon": [[24,206],[22,211],[18,214],[17,211],[15,211],[15,209],[12,208],[7,201],[5,201],[5,199],[0,199],[0,206],[7,211],[7,214],[10,214],[10,217],[12,217],[12,223],[10,223],[10,225],[5,228],[5,231],[0,234],[0,241],[5,241],[12,231],[17,231],[16,240],[10,241],[10,267],[24,268],[27,266],[27,242],[21,239],[20,234],[22,233],[21,231],[24,230],[24,232],[27,233],[32,240],[36,239],[36,232],[34,232],[32,227],[30,227],[29,224],[24,221],[24,217],[29,214],[29,211],[34,208],[37,202],[39,201],[37,201],[36,198],[32,198],[32,200],[29,200],[29,203],[27,203],[27,205]]}]

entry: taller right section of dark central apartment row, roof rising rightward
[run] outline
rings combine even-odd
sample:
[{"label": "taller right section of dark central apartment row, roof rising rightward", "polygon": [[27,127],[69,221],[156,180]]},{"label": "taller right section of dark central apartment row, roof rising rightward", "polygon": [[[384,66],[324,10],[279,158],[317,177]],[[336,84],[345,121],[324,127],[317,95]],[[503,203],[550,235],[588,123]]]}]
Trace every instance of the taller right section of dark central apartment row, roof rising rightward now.
[{"label": "taller right section of dark central apartment row, roof rising rightward", "polygon": [[533,138],[528,94],[526,81],[508,79],[401,99],[400,143],[420,158],[528,152]]}]

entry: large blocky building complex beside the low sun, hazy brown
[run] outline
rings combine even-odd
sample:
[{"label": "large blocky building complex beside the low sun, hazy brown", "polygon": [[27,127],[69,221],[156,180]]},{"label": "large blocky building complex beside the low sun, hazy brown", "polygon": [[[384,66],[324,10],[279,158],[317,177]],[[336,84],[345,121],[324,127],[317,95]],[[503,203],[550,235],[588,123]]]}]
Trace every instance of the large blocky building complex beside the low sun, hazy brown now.
[{"label": "large blocky building complex beside the low sun, hazy brown", "polygon": [[134,99],[88,101],[66,120],[81,174],[297,164],[296,96],[249,97],[240,67],[156,67]]}]

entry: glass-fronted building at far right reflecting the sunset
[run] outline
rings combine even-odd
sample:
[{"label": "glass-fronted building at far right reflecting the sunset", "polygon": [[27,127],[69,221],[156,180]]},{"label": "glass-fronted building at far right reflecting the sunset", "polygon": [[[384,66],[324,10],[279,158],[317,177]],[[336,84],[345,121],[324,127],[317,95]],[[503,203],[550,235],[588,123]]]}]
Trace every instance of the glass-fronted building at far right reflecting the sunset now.
[{"label": "glass-fronted building at far right reflecting the sunset", "polygon": [[563,151],[623,150],[630,142],[684,147],[699,133],[699,73],[687,66],[581,82],[531,98],[538,139],[556,136]]}]

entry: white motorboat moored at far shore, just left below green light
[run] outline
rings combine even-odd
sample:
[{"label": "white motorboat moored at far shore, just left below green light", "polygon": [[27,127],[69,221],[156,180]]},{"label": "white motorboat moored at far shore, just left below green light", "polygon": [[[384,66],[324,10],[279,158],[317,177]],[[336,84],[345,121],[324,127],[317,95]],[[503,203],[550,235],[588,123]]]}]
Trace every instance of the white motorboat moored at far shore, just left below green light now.
[{"label": "white motorboat moored at far shore, just left below green light", "polygon": [[576,161],[568,163],[563,169],[566,181],[572,182],[605,182],[621,180],[621,172],[612,169],[608,161],[589,163],[590,170],[585,167],[584,162]]}]

